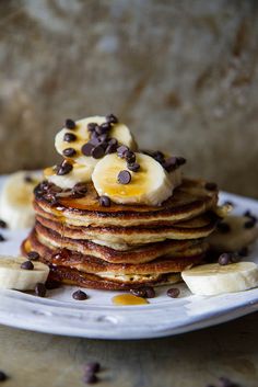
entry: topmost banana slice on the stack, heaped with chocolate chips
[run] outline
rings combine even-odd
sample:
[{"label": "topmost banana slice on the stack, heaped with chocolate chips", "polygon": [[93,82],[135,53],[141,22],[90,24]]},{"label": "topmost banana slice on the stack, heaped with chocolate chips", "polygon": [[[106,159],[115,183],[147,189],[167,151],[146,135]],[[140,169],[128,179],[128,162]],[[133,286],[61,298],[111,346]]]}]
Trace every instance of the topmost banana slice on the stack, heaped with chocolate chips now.
[{"label": "topmost banana slice on the stack, heaped with chocolate chips", "polygon": [[[93,148],[96,148],[98,144],[98,139],[96,138],[94,147],[89,145],[89,147],[83,148],[85,144],[87,144],[90,140],[93,140],[91,138],[91,132],[89,130],[89,124],[96,124],[98,127],[101,127],[103,124],[107,124],[106,117],[96,115],[77,121],[75,127],[73,129],[62,128],[56,135],[55,146],[58,153],[68,159],[74,160],[78,164],[86,166],[93,172],[94,167],[96,166],[98,159],[104,156],[105,150],[103,151],[99,147],[95,151],[94,157],[91,156]],[[105,132],[108,134],[107,139],[113,138],[118,141],[118,145],[126,145],[131,150],[137,149],[134,138],[125,124],[112,124],[110,129]],[[105,133],[103,133],[103,135],[105,136]]]}]

